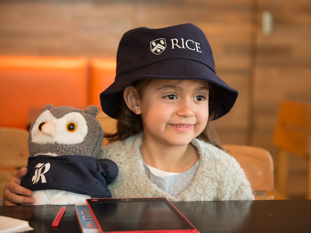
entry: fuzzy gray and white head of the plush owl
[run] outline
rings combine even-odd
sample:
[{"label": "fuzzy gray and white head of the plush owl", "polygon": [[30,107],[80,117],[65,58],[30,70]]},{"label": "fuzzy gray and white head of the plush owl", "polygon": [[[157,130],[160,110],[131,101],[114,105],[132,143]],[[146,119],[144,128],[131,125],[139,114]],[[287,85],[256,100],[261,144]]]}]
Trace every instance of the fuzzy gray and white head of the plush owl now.
[{"label": "fuzzy gray and white head of the plush owl", "polygon": [[[69,106],[46,105],[29,130],[28,149],[30,156],[50,153],[96,157],[103,142],[103,130],[95,118],[97,114],[98,108],[96,106],[88,106],[81,110]],[[56,136],[53,139],[39,130],[40,122],[48,121],[55,124]],[[62,128],[67,127],[66,124],[69,122],[77,124],[76,131],[70,132],[66,131],[66,128]],[[80,140],[79,143],[75,143],[76,139]]]}]

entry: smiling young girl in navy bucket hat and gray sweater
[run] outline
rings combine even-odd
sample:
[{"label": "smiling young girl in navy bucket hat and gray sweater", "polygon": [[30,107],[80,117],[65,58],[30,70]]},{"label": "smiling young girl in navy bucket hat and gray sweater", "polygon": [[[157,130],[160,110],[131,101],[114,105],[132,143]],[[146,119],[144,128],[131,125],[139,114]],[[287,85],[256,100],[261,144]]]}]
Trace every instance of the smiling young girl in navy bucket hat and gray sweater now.
[{"label": "smiling young girl in navy bucket hat and gray sweater", "polygon": [[[113,198],[171,201],[252,200],[244,171],[227,154],[210,122],[233,107],[238,92],[215,72],[211,47],[193,24],[126,32],[118,47],[116,78],[100,94],[117,119],[114,142],[100,158],[117,163]],[[21,186],[25,168],[8,182],[4,203],[33,203]]]}]

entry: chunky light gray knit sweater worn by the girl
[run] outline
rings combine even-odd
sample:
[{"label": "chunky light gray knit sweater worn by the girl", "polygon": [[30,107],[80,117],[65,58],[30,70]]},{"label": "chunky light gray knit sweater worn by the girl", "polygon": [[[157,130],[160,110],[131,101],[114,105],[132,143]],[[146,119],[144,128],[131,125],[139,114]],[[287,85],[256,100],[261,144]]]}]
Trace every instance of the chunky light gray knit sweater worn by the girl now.
[{"label": "chunky light gray knit sweater worn by the girl", "polygon": [[116,180],[108,188],[112,198],[166,197],[170,201],[253,200],[254,196],[238,162],[224,151],[199,139],[191,143],[200,154],[199,167],[186,190],[173,197],[159,189],[146,174],[140,146],[142,135],[102,148],[100,158],[119,167]]}]

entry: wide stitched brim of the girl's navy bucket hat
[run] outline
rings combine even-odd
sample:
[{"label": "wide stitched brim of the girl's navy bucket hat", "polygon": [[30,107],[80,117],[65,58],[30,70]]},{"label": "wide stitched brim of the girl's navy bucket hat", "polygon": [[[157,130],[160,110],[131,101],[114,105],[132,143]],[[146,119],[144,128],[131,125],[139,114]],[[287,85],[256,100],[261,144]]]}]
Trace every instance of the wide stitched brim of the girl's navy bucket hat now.
[{"label": "wide stitched brim of the girl's navy bucket hat", "polygon": [[166,80],[206,80],[219,86],[216,96],[216,115],[213,120],[224,116],[233,107],[238,98],[238,91],[221,80],[210,67],[189,59],[166,59],[144,66],[137,70],[116,77],[106,90],[100,94],[102,110],[108,116],[116,104],[117,95],[135,80],[142,78]]}]

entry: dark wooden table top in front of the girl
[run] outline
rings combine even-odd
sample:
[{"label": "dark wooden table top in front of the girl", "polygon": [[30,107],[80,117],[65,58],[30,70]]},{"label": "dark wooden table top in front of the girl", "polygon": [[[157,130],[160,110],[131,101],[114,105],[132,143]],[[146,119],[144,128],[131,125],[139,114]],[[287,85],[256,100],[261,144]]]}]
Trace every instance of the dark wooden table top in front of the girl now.
[{"label": "dark wooden table top in front of the girl", "polygon": [[[311,200],[173,202],[200,232],[311,232]],[[30,232],[81,232],[75,208],[57,229],[51,227],[61,206],[0,206],[0,215],[29,221]],[[1,229],[1,226],[0,226]]]}]

